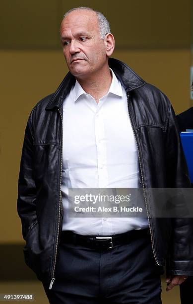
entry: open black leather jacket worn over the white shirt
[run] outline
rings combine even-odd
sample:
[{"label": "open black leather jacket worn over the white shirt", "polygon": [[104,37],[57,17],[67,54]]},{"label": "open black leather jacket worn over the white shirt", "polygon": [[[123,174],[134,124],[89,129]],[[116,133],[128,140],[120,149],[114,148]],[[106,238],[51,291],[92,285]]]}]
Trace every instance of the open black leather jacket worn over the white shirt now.
[{"label": "open black leather jacket worn over the white shirt", "polygon": [[[139,156],[152,249],[156,262],[176,275],[193,275],[193,242],[187,218],[151,218],[148,187],[190,187],[175,113],[168,98],[126,64],[109,66],[124,85]],[[17,210],[26,240],[26,264],[39,280],[55,281],[57,248],[63,224],[61,197],[63,101],[75,78],[68,73],[54,94],[33,108],[25,130],[18,181]],[[81,115],[81,113],[80,113]]]}]

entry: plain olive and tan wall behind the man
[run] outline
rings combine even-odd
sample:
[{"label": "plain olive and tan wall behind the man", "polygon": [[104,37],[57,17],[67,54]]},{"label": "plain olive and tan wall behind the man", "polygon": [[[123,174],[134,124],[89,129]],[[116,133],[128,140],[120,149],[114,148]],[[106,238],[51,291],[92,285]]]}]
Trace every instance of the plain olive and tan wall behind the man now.
[{"label": "plain olive and tan wall behind the man", "polygon": [[[32,107],[55,91],[67,72],[58,26],[63,12],[80,3],[71,1],[71,6],[65,6],[60,0],[35,0],[29,1],[30,6],[27,2],[6,1],[1,9],[0,243],[22,241],[16,199],[24,129]],[[149,0],[144,5],[142,0],[128,0],[112,7],[112,1],[81,4],[91,2],[90,6],[109,17],[115,30],[117,49],[113,57],[164,91],[176,113],[189,108],[190,1]]]}]

